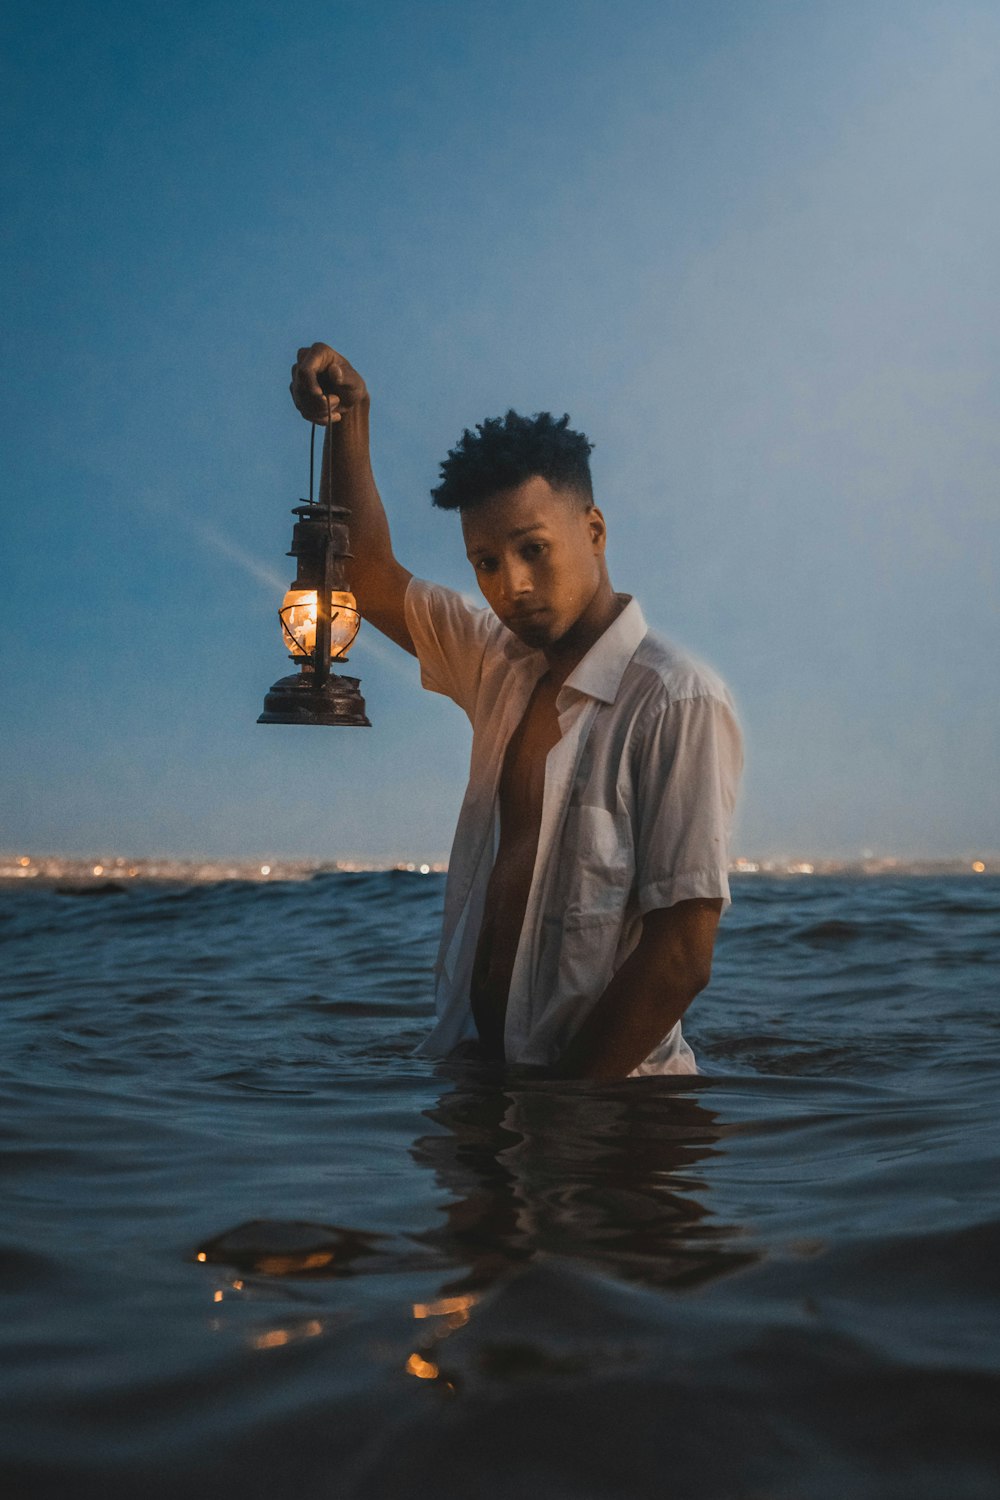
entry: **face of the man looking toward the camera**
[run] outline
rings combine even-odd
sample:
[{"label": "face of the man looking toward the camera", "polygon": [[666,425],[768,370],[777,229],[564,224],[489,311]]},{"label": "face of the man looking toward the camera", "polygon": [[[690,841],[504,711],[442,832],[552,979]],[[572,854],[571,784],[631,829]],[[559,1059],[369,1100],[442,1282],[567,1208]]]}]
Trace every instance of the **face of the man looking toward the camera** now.
[{"label": "face of the man looking toward the camera", "polygon": [[561,640],[604,578],[604,518],[535,476],[462,512],[483,596],[525,645]]}]

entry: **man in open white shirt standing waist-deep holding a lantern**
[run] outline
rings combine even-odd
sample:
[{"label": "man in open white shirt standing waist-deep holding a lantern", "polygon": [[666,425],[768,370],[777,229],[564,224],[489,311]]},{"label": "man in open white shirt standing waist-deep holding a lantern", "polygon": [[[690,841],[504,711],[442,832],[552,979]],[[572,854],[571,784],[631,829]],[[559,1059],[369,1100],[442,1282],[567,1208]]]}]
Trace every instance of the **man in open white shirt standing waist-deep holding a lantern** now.
[{"label": "man in open white shirt standing waist-deep holding a lantern", "polygon": [[726,687],[616,594],[591,444],[568,417],[465,432],[435,502],[457,510],[489,609],[393,554],[369,454],[369,393],[325,344],[292,399],[328,424],[366,620],[472,722],[424,1044],[567,1077],[696,1072],[681,1016],[705,988],[729,902],[741,734]]}]

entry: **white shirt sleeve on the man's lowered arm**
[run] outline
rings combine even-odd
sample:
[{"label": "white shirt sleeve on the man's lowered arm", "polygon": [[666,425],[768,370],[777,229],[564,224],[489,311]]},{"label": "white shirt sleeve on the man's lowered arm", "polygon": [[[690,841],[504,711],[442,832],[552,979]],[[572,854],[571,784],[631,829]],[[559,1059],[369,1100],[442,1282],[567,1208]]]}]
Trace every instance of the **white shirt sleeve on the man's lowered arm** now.
[{"label": "white shirt sleeve on the man's lowered arm", "polygon": [[729,906],[729,844],[744,766],[732,704],[709,694],[664,699],[639,728],[640,912],[693,897],[721,897]]}]

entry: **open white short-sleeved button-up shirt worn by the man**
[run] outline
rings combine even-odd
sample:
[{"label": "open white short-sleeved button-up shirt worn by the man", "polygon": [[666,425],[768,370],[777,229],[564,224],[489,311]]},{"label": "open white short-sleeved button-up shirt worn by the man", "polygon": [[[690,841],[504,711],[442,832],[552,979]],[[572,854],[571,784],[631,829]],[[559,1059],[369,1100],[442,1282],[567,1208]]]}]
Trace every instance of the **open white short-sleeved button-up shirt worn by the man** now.
[{"label": "open white short-sleeved button-up shirt worn by the man", "polygon": [[[499,832],[504,753],[546,657],[490,609],[411,579],[406,624],[424,687],[472,724],[435,968],[436,1024],[420,1052],[477,1035],[472,963]],[[642,916],[693,897],[729,904],[742,736],[724,684],[646,628],[630,600],[556,699],[525,921],[507,1004],[508,1062],[553,1065],[639,942]],[[681,1023],[633,1076],[696,1072]]]}]

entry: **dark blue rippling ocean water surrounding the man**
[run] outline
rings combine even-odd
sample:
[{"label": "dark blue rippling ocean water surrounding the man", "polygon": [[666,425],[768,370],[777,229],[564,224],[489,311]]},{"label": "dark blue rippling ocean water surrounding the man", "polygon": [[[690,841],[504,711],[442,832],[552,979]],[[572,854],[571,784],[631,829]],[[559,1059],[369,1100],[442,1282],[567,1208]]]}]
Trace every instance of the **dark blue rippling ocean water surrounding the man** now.
[{"label": "dark blue rippling ocean water surrounding the man", "polygon": [[0,1492],[1000,1494],[1000,880],[744,878],[621,1084],[412,1056],[441,876],[0,891]]}]

